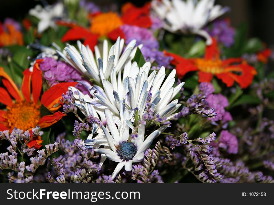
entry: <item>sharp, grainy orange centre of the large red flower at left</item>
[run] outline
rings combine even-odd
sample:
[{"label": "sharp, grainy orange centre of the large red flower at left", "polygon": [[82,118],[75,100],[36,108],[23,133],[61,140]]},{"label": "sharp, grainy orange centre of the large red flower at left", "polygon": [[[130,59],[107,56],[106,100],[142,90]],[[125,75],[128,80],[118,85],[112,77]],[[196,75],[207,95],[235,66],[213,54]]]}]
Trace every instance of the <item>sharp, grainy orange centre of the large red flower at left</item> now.
[{"label": "sharp, grainy orange centre of the large red flower at left", "polygon": [[40,120],[40,106],[34,102],[16,102],[12,107],[7,107],[8,111],[3,115],[7,119],[10,129],[28,130],[37,126]]}]

